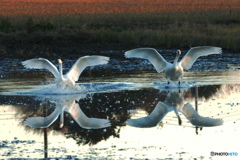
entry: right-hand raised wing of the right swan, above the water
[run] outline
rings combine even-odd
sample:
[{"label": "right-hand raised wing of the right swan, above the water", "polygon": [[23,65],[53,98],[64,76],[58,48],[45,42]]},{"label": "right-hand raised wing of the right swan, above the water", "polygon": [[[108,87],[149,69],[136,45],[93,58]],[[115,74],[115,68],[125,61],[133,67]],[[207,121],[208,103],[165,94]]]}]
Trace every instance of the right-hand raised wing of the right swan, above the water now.
[{"label": "right-hand raised wing of the right swan, above the water", "polygon": [[188,70],[192,67],[193,63],[198,59],[198,57],[221,53],[222,48],[220,47],[211,46],[193,47],[186,53],[186,55],[179,63],[182,65],[183,69]]}]

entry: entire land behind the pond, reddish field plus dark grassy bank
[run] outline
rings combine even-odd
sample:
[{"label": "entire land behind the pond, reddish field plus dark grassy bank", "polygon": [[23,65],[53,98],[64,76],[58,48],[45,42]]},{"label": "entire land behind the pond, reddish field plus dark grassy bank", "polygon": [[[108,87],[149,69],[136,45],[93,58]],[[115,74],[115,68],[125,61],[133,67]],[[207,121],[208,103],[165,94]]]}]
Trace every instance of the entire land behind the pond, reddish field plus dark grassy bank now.
[{"label": "entire land behind the pond, reddish field plus dark grassy bank", "polygon": [[219,46],[240,50],[239,0],[1,0],[0,58]]}]

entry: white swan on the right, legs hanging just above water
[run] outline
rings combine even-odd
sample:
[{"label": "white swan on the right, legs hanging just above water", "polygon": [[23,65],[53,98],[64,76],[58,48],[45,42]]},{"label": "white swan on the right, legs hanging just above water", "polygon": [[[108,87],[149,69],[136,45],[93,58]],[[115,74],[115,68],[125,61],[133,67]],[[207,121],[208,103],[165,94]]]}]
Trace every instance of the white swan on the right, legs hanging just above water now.
[{"label": "white swan on the right, legs hanging just above water", "polygon": [[191,68],[193,63],[200,56],[207,56],[210,54],[221,54],[222,49],[219,47],[211,47],[211,46],[202,46],[202,47],[193,47],[191,48],[187,54],[183,57],[183,59],[178,62],[178,59],[181,55],[181,51],[177,50],[177,56],[174,59],[173,64],[167,62],[156,49],[153,48],[137,48],[130,51],[125,52],[125,56],[127,58],[136,57],[136,58],[144,58],[149,60],[153,66],[156,68],[157,72],[164,72],[165,77],[169,82],[179,82],[183,77],[183,69],[188,70]]}]

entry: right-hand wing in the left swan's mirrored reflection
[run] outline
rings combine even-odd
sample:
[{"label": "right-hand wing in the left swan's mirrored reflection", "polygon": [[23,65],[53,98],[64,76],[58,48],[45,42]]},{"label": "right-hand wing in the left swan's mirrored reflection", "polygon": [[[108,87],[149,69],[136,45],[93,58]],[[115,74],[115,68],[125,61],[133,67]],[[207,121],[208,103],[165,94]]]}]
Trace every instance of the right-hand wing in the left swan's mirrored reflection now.
[{"label": "right-hand wing in the left swan's mirrored reflection", "polygon": [[85,129],[99,129],[111,126],[108,119],[87,117],[77,103],[75,103],[71,108],[67,109],[66,112],[72,116],[72,118],[80,127]]}]

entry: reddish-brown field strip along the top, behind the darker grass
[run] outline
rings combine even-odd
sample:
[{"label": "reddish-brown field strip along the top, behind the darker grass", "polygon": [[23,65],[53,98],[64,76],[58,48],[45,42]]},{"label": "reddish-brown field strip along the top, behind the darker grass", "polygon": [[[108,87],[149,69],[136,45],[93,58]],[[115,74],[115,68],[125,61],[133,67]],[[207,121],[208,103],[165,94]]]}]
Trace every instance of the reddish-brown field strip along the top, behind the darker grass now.
[{"label": "reddish-brown field strip along the top, behind the darker grass", "polygon": [[3,0],[0,15],[76,15],[237,10],[239,0]]}]

